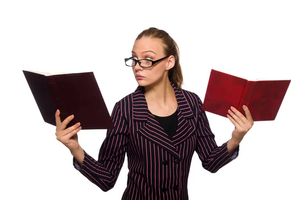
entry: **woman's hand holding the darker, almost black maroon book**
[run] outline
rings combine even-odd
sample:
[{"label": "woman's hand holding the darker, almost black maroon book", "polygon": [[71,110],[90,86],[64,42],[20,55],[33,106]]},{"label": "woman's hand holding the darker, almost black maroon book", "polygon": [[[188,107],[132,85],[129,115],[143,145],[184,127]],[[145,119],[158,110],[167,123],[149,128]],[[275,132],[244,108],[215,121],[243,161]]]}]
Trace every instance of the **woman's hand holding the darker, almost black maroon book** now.
[{"label": "woman's hand holding the darker, almost black maroon book", "polygon": [[74,118],[74,115],[68,116],[61,122],[60,111],[56,111],[56,136],[57,140],[63,143],[70,151],[76,150],[79,147],[77,132],[81,130],[80,122],[66,128],[67,124]]}]

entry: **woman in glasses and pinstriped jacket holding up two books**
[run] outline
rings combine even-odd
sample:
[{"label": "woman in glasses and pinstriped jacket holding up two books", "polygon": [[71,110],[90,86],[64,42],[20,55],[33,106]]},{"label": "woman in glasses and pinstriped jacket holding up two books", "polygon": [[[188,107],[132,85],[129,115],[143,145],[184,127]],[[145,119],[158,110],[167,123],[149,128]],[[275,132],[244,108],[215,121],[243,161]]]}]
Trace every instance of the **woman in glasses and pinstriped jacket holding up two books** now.
[{"label": "woman in glasses and pinstriped jacket holding up two books", "polygon": [[61,122],[59,110],[57,139],[70,149],[74,167],[103,191],[114,187],[127,154],[129,173],[122,199],[188,199],[194,151],[206,170],[217,172],[238,156],[239,144],[254,123],[250,112],[244,107],[244,117],[235,108],[228,110],[235,129],[218,147],[200,98],[181,89],[179,49],[163,30],[140,33],[125,63],[139,86],[115,104],[115,128],[107,130],[98,160],[78,144],[80,123],[65,129],[73,116]]}]

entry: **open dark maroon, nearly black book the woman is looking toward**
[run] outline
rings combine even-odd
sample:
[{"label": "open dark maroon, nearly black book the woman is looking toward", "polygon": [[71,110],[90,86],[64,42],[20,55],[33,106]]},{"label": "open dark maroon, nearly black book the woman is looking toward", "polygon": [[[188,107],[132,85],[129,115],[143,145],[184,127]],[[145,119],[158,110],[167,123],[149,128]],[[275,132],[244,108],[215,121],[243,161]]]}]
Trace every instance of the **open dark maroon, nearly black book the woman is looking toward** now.
[{"label": "open dark maroon, nearly black book the woman is looking toward", "polygon": [[61,121],[74,114],[67,127],[80,122],[82,129],[114,128],[93,72],[51,75],[23,70],[23,74],[46,123],[56,126],[59,109]]}]

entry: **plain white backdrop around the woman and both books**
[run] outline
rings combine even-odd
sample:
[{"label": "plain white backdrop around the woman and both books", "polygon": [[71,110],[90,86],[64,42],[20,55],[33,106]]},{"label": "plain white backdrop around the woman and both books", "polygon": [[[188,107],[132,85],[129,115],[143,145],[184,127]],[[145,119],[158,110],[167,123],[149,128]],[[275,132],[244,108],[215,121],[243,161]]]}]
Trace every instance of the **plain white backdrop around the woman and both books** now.
[{"label": "plain white backdrop around the woman and both books", "polygon": [[[212,174],[194,154],[189,199],[302,199],[302,10],[301,1],[1,1],[0,198],[121,199],[127,159],[108,192],[82,176],[55,126],[43,121],[22,70],[92,71],[111,113],[137,87],[124,58],[142,30],[157,27],[179,45],[183,89],[202,100],[211,69],[291,79],[276,119],[255,122],[236,160]],[[228,118],[207,116],[217,144],[229,140]],[[78,133],[95,159],[105,136]]]}]

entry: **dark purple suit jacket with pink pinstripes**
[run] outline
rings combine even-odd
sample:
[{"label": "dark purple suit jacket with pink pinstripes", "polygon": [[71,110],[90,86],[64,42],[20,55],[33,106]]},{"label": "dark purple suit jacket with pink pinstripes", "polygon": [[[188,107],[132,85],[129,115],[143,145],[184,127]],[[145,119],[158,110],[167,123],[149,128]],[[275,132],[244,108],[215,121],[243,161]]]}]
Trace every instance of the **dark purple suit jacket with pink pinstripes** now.
[{"label": "dark purple suit jacket with pink pinstripes", "polygon": [[144,88],[117,102],[112,111],[114,129],[108,129],[98,160],[84,151],[82,168],[74,167],[103,191],[114,187],[127,155],[127,187],[122,199],[188,199],[187,179],[193,153],[203,168],[215,173],[238,156],[230,157],[227,142],[217,146],[202,102],[193,92],[174,88],[178,128],[173,140],[148,110]]}]

